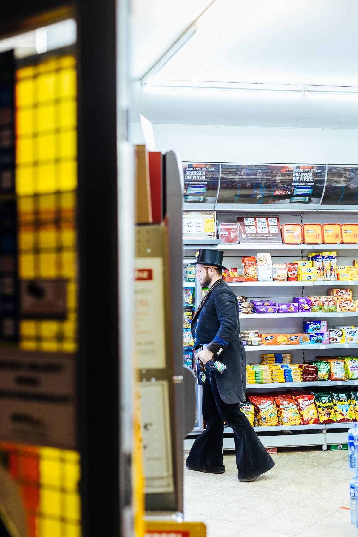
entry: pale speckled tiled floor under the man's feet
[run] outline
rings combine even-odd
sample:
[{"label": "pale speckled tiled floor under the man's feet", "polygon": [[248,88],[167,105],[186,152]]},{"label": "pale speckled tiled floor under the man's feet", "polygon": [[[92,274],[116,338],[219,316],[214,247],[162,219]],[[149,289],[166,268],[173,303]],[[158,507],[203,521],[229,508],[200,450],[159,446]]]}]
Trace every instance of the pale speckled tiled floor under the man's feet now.
[{"label": "pale speckled tiled floor under the man's feet", "polygon": [[286,452],[252,483],[240,483],[234,455],[225,474],[185,468],[184,518],[208,537],[358,537],[350,524],[347,451]]}]

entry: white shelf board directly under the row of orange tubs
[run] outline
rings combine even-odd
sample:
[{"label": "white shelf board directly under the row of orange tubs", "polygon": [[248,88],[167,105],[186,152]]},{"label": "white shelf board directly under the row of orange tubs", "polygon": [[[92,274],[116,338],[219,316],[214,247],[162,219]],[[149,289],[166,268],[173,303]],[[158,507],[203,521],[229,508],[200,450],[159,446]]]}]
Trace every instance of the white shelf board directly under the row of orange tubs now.
[{"label": "white shelf board directly under the row of orange tubs", "polygon": [[195,246],[211,245],[213,250],[354,250],[358,249],[358,244],[282,244],[282,243],[255,243],[255,244],[221,244],[220,239],[184,239],[184,248],[194,248]]}]

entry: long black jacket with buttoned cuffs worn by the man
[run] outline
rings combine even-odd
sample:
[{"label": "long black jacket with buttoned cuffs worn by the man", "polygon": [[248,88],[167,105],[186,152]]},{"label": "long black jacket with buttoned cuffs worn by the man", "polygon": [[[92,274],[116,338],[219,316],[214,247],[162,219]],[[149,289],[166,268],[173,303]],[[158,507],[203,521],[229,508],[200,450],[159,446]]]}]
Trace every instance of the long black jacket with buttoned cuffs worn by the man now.
[{"label": "long black jacket with buttoned cuffs worn by the man", "polygon": [[215,282],[196,311],[191,324],[194,350],[208,344],[227,370],[215,372],[217,388],[224,403],[245,401],[246,353],[240,338],[239,304],[222,279]]}]

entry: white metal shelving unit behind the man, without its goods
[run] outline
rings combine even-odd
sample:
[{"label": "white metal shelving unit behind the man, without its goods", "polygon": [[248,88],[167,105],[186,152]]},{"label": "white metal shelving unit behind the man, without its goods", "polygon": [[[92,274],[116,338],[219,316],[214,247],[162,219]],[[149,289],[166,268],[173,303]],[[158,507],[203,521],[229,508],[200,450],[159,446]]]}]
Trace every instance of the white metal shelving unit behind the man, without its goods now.
[{"label": "white metal shelving unit behind the man, without its goods", "polygon": [[[226,186],[225,186],[226,188]],[[221,190],[220,181],[218,190]],[[217,223],[234,223],[237,216],[279,216],[280,225],[284,223],[355,223],[358,217],[354,213],[355,206],[321,206],[309,208],[303,204],[299,206],[275,207],[274,204],[265,205],[222,205],[217,200],[213,206],[206,207],[205,204],[190,207],[185,204],[187,210],[215,210]],[[241,259],[244,255],[254,256],[259,252],[271,252],[273,263],[293,263],[296,259],[307,259],[309,252],[337,251],[338,265],[352,265],[354,258],[358,259],[358,244],[280,244],[280,243],[242,243],[242,244],[221,244],[218,240],[199,241],[198,239],[184,240],[184,262],[194,261],[195,251],[199,248],[210,248],[213,250],[223,250],[223,264],[227,267],[240,267]],[[352,288],[353,298],[358,299],[358,281],[238,281],[228,282],[232,291],[237,295],[245,295],[248,300],[268,299],[276,302],[292,302],[293,297],[325,295],[328,289],[333,287]],[[196,287],[196,297],[200,301],[200,286]],[[358,325],[355,318],[358,311],[353,312],[299,312],[299,313],[274,313],[274,314],[240,314],[240,325],[242,329],[252,328],[260,333],[300,333],[302,332],[302,321],[304,319],[327,320],[328,326],[347,324]],[[302,363],[304,359],[314,359],[315,355],[352,355],[358,357],[357,344],[306,344],[306,345],[260,345],[245,346],[248,363],[258,363],[261,353],[271,352],[292,352],[293,362]],[[317,381],[317,382],[285,382],[269,384],[247,384],[247,393],[268,393],[273,390],[286,389],[310,389],[310,388],[330,388],[330,387],[354,387],[358,386],[358,380],[350,381]],[[358,389],[358,388],[357,388]],[[255,427],[262,443],[265,447],[286,447],[286,446],[322,446],[326,449],[327,444],[341,444],[347,442],[347,429],[350,423],[342,424],[314,424],[299,426],[275,426],[275,427]],[[225,427],[224,449],[233,449],[234,442],[232,431]],[[194,434],[185,440],[185,449],[189,449],[194,441]]]}]

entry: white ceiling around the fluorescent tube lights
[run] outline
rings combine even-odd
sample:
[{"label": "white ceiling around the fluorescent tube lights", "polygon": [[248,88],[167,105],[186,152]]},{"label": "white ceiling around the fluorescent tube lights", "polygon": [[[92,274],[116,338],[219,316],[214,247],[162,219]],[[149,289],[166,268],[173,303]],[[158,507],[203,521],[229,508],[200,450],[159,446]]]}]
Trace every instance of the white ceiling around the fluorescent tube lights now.
[{"label": "white ceiling around the fluorescent tube lights", "polygon": [[[141,91],[138,78],[208,3],[134,0],[133,121],[141,112],[164,124],[358,128],[358,99]],[[156,81],[358,86],[357,20],[357,0],[216,0]]]}]

